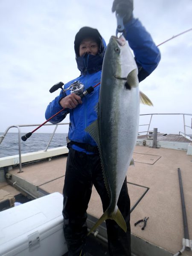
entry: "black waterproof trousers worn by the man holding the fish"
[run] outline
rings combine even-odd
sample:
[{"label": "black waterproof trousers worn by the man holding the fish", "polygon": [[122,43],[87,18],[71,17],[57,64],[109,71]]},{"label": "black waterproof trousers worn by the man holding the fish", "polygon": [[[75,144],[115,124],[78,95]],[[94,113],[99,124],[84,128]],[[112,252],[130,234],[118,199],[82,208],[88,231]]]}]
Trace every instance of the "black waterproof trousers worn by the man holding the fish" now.
[{"label": "black waterproof trousers worn by the man holding the fish", "polygon": [[[92,186],[102,200],[103,211],[109,206],[99,154],[85,154],[70,148],[63,189],[64,236],[69,256],[79,256],[87,236],[87,207]],[[118,207],[127,224],[125,233],[113,220],[106,220],[108,248],[111,256],[131,256],[130,199],[126,179],[123,183]]]}]

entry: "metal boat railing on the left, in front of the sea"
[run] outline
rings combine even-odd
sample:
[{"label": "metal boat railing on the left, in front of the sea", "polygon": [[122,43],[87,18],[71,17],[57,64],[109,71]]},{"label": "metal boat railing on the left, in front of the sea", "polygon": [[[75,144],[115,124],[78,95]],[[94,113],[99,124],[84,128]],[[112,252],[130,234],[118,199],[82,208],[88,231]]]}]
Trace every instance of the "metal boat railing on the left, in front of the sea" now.
[{"label": "metal boat railing on the left, in front of the sea", "polygon": [[[22,172],[22,162],[21,162],[21,132],[20,132],[20,128],[21,127],[31,127],[31,126],[39,126],[40,124],[32,124],[32,125],[12,125],[12,126],[9,126],[6,131],[4,132],[3,135],[0,135],[0,144],[2,143],[3,139],[6,137],[6,134],[8,133],[8,131],[11,129],[11,128],[17,128],[17,131],[18,131],[18,145],[19,145],[19,172]],[[69,125],[69,123],[59,123],[59,124],[45,124],[44,126],[47,126],[47,125],[55,125],[55,129],[54,131],[52,132],[51,136],[50,136],[50,139],[49,139],[49,142],[47,143],[47,146],[45,148],[44,151],[47,151],[47,148],[49,147],[49,144],[51,143],[52,141],[52,138],[55,134],[55,131],[57,130],[58,128],[58,125]]]}]

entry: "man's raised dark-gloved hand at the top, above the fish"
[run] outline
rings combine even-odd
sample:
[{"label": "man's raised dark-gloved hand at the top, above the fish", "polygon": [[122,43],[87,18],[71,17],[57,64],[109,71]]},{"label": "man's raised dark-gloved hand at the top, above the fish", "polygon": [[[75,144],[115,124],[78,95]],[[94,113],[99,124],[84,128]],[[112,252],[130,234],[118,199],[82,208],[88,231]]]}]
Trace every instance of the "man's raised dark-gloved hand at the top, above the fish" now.
[{"label": "man's raised dark-gloved hand at the top, above the fish", "polygon": [[123,23],[127,23],[133,17],[133,0],[114,0],[112,12],[124,16]]}]

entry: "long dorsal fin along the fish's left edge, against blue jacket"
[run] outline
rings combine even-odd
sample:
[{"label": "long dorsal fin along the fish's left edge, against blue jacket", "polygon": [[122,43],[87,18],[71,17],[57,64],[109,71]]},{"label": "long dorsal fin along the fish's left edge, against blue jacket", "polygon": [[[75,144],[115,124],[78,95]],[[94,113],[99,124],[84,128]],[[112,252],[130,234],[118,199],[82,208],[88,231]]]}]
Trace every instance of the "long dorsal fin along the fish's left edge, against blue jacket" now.
[{"label": "long dorsal fin along the fish's left edge, against blue jacket", "polygon": [[103,177],[104,177],[105,187],[108,191],[109,197],[111,198],[111,192],[110,192],[109,185],[108,185],[108,179],[107,179],[107,176],[105,174],[104,163],[103,163],[103,158],[102,158],[102,151],[101,151],[101,145],[100,145],[100,140],[99,140],[99,128],[98,128],[97,119],[94,122],[92,122],[89,126],[87,126],[85,131],[90,134],[90,136],[93,138],[93,140],[95,140],[95,142],[98,146],[99,157],[100,157],[100,160],[101,160],[102,173],[103,173]]}]

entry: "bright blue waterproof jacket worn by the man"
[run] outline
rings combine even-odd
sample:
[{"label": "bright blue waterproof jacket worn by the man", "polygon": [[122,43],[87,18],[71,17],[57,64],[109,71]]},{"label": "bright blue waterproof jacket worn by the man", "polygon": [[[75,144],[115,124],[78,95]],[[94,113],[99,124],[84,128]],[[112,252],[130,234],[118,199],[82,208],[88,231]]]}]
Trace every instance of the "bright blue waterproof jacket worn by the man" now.
[{"label": "bright blue waterproof jacket worn by the man", "polygon": [[[134,52],[139,71],[139,81],[142,81],[157,67],[160,61],[160,51],[155,46],[151,35],[145,30],[138,19],[133,18],[125,25],[124,36]],[[78,68],[81,71],[81,76],[69,81],[64,85],[64,88],[69,87],[74,81],[80,81],[82,84],[84,84],[85,89],[99,83],[101,81],[103,57],[104,54],[96,56],[86,55],[76,58]],[[83,103],[79,104],[76,108],[72,110],[66,109],[50,120],[51,123],[56,124],[61,122],[67,113],[70,113],[70,126],[68,133],[69,140],[96,145],[93,138],[90,137],[90,135],[84,130],[88,125],[97,119],[95,106],[99,100],[99,88],[100,85],[95,87],[92,93],[82,98]],[[61,91],[60,95],[49,103],[45,113],[46,119],[62,109],[61,105],[59,104],[59,100],[68,94],[70,94],[70,90],[68,90],[66,93]],[[77,145],[73,145],[72,147],[78,151],[86,152]]]}]

